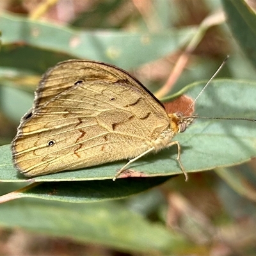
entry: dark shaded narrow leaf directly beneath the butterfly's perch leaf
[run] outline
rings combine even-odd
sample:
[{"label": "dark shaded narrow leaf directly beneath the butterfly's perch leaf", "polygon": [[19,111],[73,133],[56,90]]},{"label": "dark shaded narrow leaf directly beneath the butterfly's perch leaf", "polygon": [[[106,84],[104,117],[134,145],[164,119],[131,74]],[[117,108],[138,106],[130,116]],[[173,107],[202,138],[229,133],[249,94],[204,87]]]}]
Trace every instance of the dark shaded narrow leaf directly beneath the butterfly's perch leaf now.
[{"label": "dark shaded narrow leaf directly beneath the butterfly's perch leaf", "polygon": [[32,197],[71,203],[112,200],[141,193],[170,179],[169,176],[76,182],[34,182],[12,193],[0,196],[0,203],[16,198]]}]

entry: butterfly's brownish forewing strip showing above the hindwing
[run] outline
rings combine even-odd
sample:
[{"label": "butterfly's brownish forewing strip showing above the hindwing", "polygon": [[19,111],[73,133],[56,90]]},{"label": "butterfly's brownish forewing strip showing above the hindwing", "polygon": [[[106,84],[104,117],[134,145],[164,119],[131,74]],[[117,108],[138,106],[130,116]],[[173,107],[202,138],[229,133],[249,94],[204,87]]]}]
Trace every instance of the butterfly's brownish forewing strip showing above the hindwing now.
[{"label": "butterfly's brownish forewing strip showing above the hindwing", "polygon": [[[36,90],[33,108],[40,108],[49,100],[65,92],[80,81],[129,81],[138,90],[146,90],[144,86],[128,72],[113,65],[97,61],[68,60],[49,68],[39,83]],[[148,92],[148,91],[147,91]],[[148,92],[150,93],[150,92]],[[151,95],[154,97],[154,95]],[[156,98],[154,98],[159,104]]]}]

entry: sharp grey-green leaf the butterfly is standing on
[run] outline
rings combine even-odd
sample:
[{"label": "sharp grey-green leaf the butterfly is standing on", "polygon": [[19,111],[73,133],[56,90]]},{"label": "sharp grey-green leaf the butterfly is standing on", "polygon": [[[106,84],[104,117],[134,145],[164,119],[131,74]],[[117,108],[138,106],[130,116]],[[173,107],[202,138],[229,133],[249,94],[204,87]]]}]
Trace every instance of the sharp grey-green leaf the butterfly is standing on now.
[{"label": "sharp grey-green leaf the butterfly is standing on", "polygon": [[[182,92],[195,99],[203,84],[191,84]],[[196,101],[196,113],[208,117],[256,118],[255,95],[254,82],[228,79],[214,81]],[[232,166],[255,157],[255,127],[255,122],[244,120],[195,120],[185,132],[175,136],[175,140],[180,141],[181,161],[186,172]],[[176,157],[177,147],[166,148],[157,154],[141,157],[129,166],[129,171],[134,171],[130,174],[138,177],[179,174],[181,170],[175,161]],[[5,145],[0,147],[0,163],[2,182],[41,182],[112,179],[127,161],[26,179],[17,174],[12,164],[10,146]]]}]

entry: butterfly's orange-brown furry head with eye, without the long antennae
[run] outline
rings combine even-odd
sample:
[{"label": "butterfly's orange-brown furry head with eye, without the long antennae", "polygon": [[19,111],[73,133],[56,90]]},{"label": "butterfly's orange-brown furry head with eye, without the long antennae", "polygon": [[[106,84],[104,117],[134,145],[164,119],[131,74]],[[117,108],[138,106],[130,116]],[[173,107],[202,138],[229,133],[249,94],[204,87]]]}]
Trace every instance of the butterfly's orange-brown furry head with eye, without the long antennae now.
[{"label": "butterfly's orange-brown furry head with eye, without the long antennae", "polygon": [[169,114],[170,125],[173,132],[184,132],[196,116],[184,116],[182,112]]}]

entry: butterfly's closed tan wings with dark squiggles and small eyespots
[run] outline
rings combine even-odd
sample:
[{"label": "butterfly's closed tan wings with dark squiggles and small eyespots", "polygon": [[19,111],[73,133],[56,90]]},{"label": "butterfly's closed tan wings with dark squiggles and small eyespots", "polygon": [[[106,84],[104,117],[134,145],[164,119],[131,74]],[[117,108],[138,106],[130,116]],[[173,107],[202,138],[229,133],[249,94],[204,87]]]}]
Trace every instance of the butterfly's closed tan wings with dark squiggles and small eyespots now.
[{"label": "butterfly's closed tan wings with dark squiggles and small eyespots", "polygon": [[[74,64],[82,70],[76,76]],[[58,87],[59,70],[65,70],[61,88],[67,89],[46,96],[23,118],[13,140],[15,165],[29,177],[138,156],[170,124],[163,106],[124,70],[65,61],[45,77],[54,81],[45,84],[47,93]]]}]

